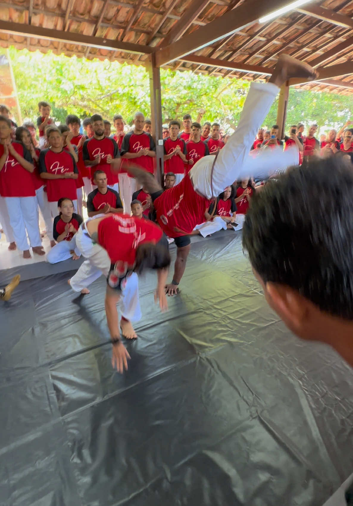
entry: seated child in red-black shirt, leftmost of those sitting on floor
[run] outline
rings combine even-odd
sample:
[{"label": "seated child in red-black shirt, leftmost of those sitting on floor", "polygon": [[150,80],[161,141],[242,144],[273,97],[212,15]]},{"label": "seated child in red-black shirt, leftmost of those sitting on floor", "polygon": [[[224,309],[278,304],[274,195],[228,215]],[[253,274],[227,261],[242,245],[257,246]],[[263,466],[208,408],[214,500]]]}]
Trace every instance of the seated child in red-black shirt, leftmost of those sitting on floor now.
[{"label": "seated child in red-black shirt, leftmost of those sitting on floor", "polygon": [[53,236],[57,244],[49,251],[47,261],[57,264],[72,257],[77,260],[81,256],[76,247],[75,234],[79,230],[83,219],[74,213],[73,202],[70,198],[60,198],[58,201],[59,216],[54,219]]}]

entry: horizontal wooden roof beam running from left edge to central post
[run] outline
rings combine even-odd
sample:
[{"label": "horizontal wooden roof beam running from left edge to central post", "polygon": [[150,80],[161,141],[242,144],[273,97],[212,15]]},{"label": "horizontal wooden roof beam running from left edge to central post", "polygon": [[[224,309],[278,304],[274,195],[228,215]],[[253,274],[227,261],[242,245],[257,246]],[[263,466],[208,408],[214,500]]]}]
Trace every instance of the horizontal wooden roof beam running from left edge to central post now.
[{"label": "horizontal wooden roof beam running from left edge to central post", "polygon": [[153,48],[150,48],[149,46],[141,46],[139,44],[131,44],[109,38],[93,37],[92,35],[83,35],[82,33],[43,28],[41,26],[11,23],[3,20],[0,20],[0,31],[23,37],[58,40],[65,44],[77,44],[79,46],[88,46],[91,48],[107,49],[111,51],[122,51],[137,54],[150,54],[153,52]]}]

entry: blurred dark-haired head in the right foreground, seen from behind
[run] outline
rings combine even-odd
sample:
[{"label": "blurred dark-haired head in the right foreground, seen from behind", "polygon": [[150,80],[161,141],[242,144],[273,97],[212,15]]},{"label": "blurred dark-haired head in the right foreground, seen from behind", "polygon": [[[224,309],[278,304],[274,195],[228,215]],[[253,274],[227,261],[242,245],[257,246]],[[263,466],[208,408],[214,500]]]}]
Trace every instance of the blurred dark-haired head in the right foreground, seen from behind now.
[{"label": "blurred dark-haired head in the right foreground, seen from behind", "polygon": [[352,165],[312,161],[266,185],[249,208],[243,246],[286,325],[353,365]]}]

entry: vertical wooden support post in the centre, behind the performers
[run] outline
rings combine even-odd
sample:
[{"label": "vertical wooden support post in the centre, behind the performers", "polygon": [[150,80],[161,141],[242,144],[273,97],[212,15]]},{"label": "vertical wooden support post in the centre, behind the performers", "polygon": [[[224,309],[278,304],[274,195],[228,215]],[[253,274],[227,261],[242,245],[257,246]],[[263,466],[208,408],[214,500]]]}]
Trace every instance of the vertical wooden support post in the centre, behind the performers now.
[{"label": "vertical wooden support post in the centre, behind the performers", "polygon": [[152,137],[155,142],[155,175],[158,182],[164,184],[164,161],[163,161],[163,138],[162,138],[162,96],[161,96],[161,73],[155,65],[155,55],[148,57],[147,70],[149,74],[149,96],[151,101],[151,124]]}]

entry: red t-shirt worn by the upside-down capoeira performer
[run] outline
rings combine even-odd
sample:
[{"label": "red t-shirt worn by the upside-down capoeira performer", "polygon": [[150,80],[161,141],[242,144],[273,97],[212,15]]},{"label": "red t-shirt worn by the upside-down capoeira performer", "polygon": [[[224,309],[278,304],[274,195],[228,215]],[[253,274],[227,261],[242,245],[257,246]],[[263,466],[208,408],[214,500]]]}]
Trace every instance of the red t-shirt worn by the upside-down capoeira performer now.
[{"label": "red t-shirt worn by the upside-down capoeira performer", "polygon": [[203,223],[211,200],[202,197],[193,189],[189,176],[165,190],[153,202],[157,221],[168,237],[180,237],[192,232]]}]

